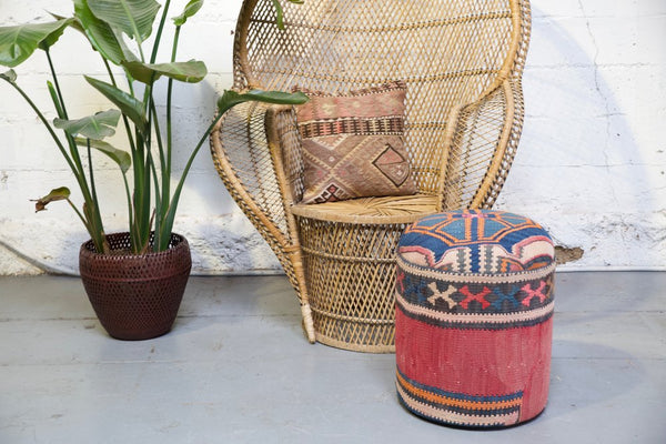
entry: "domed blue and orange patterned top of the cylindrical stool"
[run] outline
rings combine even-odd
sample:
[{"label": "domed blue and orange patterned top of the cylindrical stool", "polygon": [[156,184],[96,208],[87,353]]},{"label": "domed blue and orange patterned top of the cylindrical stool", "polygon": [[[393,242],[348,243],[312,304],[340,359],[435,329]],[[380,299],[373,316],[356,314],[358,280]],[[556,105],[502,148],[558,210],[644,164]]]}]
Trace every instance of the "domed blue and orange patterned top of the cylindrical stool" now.
[{"label": "domed blue and orange patterned top of the cylindrical stool", "polygon": [[405,229],[398,258],[460,274],[505,274],[554,265],[548,233],[525,216],[491,210],[432,214]]}]

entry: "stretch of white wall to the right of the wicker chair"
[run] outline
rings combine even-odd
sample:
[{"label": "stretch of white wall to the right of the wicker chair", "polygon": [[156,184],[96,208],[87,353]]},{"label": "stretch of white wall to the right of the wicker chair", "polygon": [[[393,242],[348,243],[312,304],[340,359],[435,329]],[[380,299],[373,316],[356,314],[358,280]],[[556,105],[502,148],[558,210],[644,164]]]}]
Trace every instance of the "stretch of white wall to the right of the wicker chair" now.
[{"label": "stretch of white wall to the right of the wicker chair", "polygon": [[534,1],[525,130],[497,208],[581,248],[567,268],[666,266],[666,1]]}]

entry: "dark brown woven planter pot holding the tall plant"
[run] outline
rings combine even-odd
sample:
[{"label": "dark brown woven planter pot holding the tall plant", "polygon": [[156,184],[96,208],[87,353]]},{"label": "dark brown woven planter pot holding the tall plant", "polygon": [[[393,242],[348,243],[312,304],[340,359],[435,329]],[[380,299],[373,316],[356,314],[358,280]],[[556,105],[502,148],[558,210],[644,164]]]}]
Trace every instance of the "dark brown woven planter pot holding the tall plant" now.
[{"label": "dark brown woven planter pot holding the tall plant", "polygon": [[129,233],[109,234],[111,254],[81,245],[79,270],[102,326],[119,340],[137,341],[171,331],[180,307],[192,259],[185,238],[172,234],[159,253],[129,254]]}]

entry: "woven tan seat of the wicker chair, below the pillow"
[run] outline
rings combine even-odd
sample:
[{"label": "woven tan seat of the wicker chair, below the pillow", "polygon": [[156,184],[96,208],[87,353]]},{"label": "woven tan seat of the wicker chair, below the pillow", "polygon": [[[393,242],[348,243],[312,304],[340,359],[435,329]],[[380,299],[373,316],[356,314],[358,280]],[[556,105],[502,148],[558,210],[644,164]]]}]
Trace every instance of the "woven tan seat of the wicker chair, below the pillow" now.
[{"label": "woven tan seat of the wicker chair, below the pillow", "polygon": [[297,204],[292,213],[320,221],[366,224],[411,223],[437,211],[435,195],[414,194],[361,198],[349,201]]}]

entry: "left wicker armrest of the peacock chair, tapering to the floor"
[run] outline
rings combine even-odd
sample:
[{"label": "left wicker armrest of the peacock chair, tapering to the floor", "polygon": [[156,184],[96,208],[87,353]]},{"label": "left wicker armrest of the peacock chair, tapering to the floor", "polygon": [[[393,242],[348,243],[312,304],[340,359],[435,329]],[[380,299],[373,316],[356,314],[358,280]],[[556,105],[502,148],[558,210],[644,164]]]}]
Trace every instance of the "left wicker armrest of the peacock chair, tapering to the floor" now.
[{"label": "left wicker armrest of the peacock chair, tapering to the floor", "polygon": [[[315,341],[293,202],[282,158],[281,115],[291,107],[258,102],[229,110],[211,134],[211,153],[226,190],[273,250],[301,303],[303,329]],[[285,137],[282,137],[282,140]],[[297,142],[297,139],[296,139]]]}]

